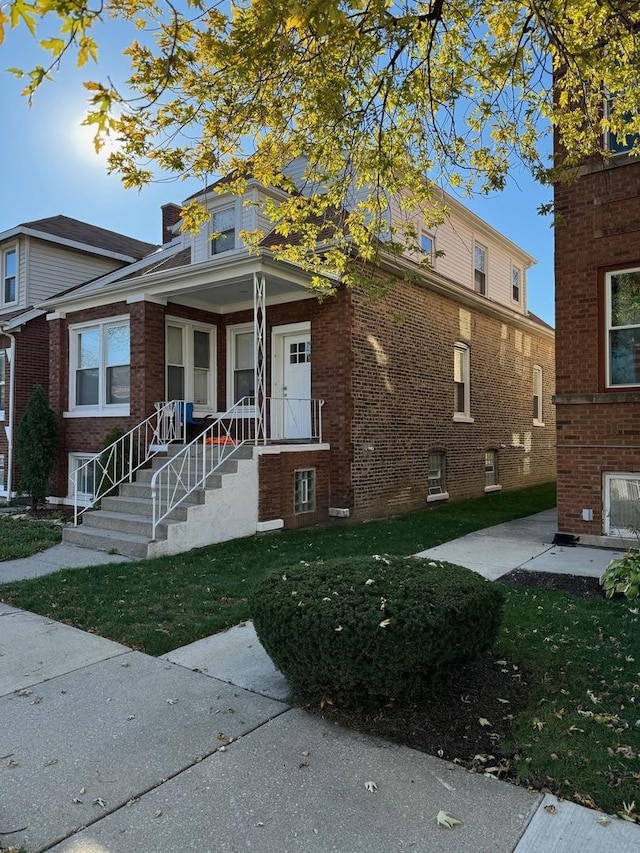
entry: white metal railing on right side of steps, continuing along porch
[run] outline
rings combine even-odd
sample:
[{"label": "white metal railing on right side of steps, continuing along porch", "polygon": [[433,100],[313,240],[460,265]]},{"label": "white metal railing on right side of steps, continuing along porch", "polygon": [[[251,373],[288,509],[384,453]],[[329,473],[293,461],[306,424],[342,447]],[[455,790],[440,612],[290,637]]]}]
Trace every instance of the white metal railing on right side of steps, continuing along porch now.
[{"label": "white metal railing on right side of steps, continuing along porch", "polygon": [[153,539],[158,525],[242,445],[266,443],[268,436],[272,442],[322,441],[324,400],[267,397],[264,402],[266,429],[258,424],[254,398],[243,397],[158,468],[151,478]]}]

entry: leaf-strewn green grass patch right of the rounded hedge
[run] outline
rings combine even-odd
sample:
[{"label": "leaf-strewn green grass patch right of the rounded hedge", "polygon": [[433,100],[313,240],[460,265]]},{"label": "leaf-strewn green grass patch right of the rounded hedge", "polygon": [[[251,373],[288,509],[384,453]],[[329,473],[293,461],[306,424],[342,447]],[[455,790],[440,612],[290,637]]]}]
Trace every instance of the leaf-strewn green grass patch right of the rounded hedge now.
[{"label": "leaf-strewn green grass patch right of the rounded hedge", "polygon": [[499,654],[533,672],[529,704],[502,745],[516,752],[519,780],[637,820],[639,609],[508,588],[498,642]]}]

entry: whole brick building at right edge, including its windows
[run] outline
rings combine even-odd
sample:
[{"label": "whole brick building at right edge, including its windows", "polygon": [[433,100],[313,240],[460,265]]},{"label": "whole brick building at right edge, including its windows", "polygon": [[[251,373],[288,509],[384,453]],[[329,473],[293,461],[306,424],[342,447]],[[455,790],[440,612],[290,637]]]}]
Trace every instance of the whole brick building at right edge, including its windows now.
[{"label": "whole brick building at right edge, including its windows", "polygon": [[640,160],[608,140],[555,188],[558,528],[626,547],[640,527]]}]

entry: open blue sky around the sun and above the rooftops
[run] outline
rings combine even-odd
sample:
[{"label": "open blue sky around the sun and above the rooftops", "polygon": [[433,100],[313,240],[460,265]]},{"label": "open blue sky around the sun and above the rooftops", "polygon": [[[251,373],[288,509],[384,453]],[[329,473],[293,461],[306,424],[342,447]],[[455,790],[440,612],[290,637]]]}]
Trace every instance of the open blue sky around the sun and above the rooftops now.
[{"label": "open blue sky around the sun and above the rooftops", "polygon": [[[42,62],[33,41],[9,31],[0,47],[0,104],[5,119],[2,139],[3,193],[0,231],[21,222],[64,214],[151,243],[161,241],[161,205],[181,202],[199,189],[195,181],[169,180],[141,191],[125,190],[107,175],[104,157],[97,156],[91,131],[82,128],[86,92],[83,79],[122,78],[119,55],[122,30],[108,24],[112,38],[101,45],[99,69],[78,71],[63,64],[55,82],[45,84],[29,108],[20,95],[23,84],[4,69]],[[116,42],[119,36],[120,41]],[[10,164],[10,165],[9,165]],[[476,214],[517,243],[538,263],[528,273],[529,309],[553,324],[553,231],[550,217],[537,213],[551,200],[551,190],[538,186],[524,171],[513,175],[502,193],[461,199]]]}]

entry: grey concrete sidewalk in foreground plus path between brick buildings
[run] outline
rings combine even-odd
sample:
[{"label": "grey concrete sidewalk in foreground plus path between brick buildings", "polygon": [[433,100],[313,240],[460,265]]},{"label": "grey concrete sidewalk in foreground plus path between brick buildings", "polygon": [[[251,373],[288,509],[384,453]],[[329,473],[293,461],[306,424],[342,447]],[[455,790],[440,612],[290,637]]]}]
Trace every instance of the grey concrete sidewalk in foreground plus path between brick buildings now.
[{"label": "grey concrete sidewalk in foreground plus path between brick buildings", "polygon": [[[529,520],[527,541],[537,541],[540,523]],[[499,527],[484,531],[484,559],[499,548],[515,568],[515,528]],[[466,548],[461,541],[449,545]],[[548,543],[536,547],[526,563],[546,557],[555,566],[562,557],[566,565]],[[588,573],[611,556],[569,550],[570,559],[583,554]],[[506,560],[505,551],[517,557]],[[345,731],[292,708],[287,696],[250,624],[152,658],[0,604],[0,849],[640,849],[637,825],[604,825],[573,803]],[[439,826],[441,810],[462,823]]]}]

